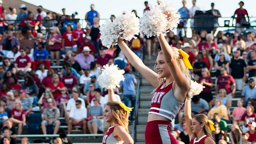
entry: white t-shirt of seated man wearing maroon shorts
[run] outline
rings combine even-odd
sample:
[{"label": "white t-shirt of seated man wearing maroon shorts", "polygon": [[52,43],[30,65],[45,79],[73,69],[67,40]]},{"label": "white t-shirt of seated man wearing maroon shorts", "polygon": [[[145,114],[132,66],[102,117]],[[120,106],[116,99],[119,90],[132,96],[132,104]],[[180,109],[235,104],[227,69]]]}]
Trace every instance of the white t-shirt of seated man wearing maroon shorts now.
[{"label": "white t-shirt of seated man wearing maroon shorts", "polygon": [[79,108],[79,109],[77,109],[76,107],[72,108],[70,110],[69,117],[72,117],[77,120],[87,118],[87,109],[83,106],[81,106],[81,108]]}]

